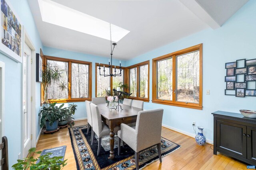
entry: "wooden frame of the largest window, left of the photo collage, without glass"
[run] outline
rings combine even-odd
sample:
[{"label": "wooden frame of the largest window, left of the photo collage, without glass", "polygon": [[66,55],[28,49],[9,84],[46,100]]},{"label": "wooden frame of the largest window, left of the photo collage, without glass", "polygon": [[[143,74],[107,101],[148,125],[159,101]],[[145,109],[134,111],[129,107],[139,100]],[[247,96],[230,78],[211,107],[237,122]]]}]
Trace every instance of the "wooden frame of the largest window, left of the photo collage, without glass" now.
[{"label": "wooden frame of the largest window, left of the photo collage, without glass", "polygon": [[[165,105],[170,105],[170,106],[178,106],[178,107],[187,107],[187,108],[192,108],[192,109],[200,109],[202,110],[202,47],[203,44],[198,44],[194,45],[192,47],[188,47],[186,49],[182,49],[170,54],[166,54],[157,58],[152,59],[152,103],[157,103],[157,104],[165,104]],[[177,61],[177,56],[184,55],[186,53],[191,53],[193,51],[199,51],[199,103],[189,103],[189,102],[178,102],[176,101],[176,73],[177,73],[177,66],[176,66],[176,61]],[[157,62],[172,58],[172,100],[162,100],[157,98]]]}]

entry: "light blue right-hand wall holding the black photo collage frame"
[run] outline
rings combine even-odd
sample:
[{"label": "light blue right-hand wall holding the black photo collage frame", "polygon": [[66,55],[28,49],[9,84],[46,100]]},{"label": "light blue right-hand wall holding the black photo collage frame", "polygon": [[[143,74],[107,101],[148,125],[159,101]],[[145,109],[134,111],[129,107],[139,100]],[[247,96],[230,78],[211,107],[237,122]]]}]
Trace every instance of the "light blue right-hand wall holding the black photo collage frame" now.
[{"label": "light blue right-hand wall holding the black photo collage frame", "polygon": [[[256,1],[250,0],[222,27],[207,29],[154,51],[127,61],[126,65],[150,60],[150,100],[152,99],[152,59],[203,43],[203,110],[162,104],[145,103],[145,109],[163,108],[163,124],[187,133],[193,133],[192,121],[204,127],[206,139],[213,140],[212,112],[230,111],[240,113],[240,109],[256,110],[256,98],[225,96],[225,63],[238,59],[256,58]],[[210,95],[206,95],[210,90]]]}]

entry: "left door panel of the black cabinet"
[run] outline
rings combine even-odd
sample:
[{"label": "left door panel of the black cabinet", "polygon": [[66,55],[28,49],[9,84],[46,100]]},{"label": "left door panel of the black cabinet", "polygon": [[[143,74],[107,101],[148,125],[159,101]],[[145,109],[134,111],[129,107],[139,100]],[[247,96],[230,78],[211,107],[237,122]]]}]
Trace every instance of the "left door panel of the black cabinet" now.
[{"label": "left door panel of the black cabinet", "polygon": [[217,139],[217,148],[246,158],[246,126],[217,121]]}]

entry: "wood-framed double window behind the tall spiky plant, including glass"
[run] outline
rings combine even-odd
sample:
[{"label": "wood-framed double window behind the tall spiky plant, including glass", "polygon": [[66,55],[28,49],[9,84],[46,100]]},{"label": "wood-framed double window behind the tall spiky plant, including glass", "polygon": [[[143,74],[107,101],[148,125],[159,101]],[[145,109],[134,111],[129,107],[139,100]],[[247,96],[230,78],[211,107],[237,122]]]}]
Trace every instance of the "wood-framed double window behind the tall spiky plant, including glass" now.
[{"label": "wood-framed double window behind the tall spiky plant, including glass", "polygon": [[[49,102],[84,102],[92,100],[92,63],[44,55],[43,64],[49,63],[61,70],[60,81],[47,88]],[[63,90],[60,89],[63,86]],[[44,90],[41,88],[41,95]],[[43,98],[41,98],[43,100]],[[42,103],[44,101],[41,101]]]}]

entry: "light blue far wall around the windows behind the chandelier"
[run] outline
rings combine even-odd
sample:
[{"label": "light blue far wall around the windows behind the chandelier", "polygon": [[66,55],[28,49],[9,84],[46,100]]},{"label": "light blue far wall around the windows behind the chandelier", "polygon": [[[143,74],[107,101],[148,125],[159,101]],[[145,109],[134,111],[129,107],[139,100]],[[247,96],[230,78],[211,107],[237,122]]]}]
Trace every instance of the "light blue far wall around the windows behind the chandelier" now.
[{"label": "light blue far wall around the windows behind the chandelier", "polygon": [[[74,60],[80,60],[80,61],[88,61],[92,62],[92,97],[95,97],[95,63],[102,63],[102,64],[108,64],[108,57],[100,57],[95,55],[88,55],[84,53],[76,53],[73,51],[66,51],[61,49],[54,49],[50,47],[44,47],[43,51],[44,55],[49,55],[53,57],[61,57],[66,59],[74,59]],[[126,66],[126,61],[121,61],[122,66]],[[113,59],[113,65],[119,65],[119,60]],[[73,103],[66,103],[64,104],[65,107],[68,106],[68,104]],[[77,111],[74,114],[75,119],[81,119],[81,118],[87,118],[86,114],[86,107],[84,102],[74,102],[77,107]],[[60,104],[58,104],[60,105]]]}]

